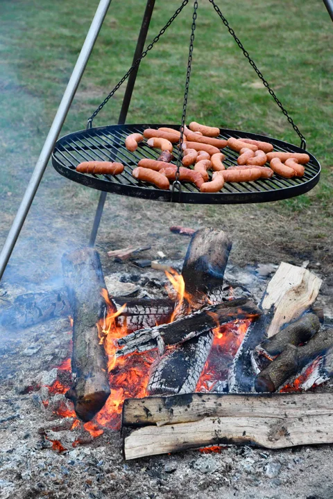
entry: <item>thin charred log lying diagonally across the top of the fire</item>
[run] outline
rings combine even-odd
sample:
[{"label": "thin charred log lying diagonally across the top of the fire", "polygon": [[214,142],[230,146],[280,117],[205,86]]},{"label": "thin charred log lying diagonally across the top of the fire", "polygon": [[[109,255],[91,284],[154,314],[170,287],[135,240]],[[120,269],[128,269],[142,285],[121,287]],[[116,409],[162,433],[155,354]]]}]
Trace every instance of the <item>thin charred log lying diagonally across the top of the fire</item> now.
[{"label": "thin charred log lying diagonally across the top of the fire", "polygon": [[117,351],[117,357],[135,351],[152,350],[157,348],[159,344],[162,344],[164,348],[164,345],[187,342],[191,338],[216,328],[217,323],[222,326],[236,319],[257,319],[261,313],[262,311],[257,305],[246,298],[208,306],[170,324],[162,324],[151,329],[141,329],[119,338],[117,342],[121,349]]}]

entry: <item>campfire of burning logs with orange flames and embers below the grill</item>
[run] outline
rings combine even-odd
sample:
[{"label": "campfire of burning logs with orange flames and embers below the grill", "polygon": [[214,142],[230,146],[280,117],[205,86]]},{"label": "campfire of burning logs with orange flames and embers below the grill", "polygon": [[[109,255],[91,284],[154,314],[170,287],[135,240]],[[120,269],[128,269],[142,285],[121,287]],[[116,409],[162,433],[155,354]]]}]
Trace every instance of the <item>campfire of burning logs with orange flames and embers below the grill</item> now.
[{"label": "campfire of burning logs with orange flames and embers below the grill", "polygon": [[[169,298],[151,300],[110,296],[94,249],[63,257],[73,349],[49,392],[62,394],[53,412],[80,433],[72,446],[105,428],[122,428],[126,459],[332,441],[330,394],[296,393],[333,372],[333,331],[315,303],[321,279],[281,263],[257,304],[244,286],[223,282],[231,247],[223,231],[196,231],[181,274],[167,272]],[[318,415],[316,436],[307,428]]]}]

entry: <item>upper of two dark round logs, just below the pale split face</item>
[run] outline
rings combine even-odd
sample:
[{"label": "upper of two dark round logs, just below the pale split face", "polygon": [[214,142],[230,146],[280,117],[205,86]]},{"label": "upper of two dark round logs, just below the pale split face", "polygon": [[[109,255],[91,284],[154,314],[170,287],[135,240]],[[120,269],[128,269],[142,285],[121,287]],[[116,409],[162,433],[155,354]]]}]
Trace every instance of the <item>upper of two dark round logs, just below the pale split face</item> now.
[{"label": "upper of two dark round logs, just below the pale split face", "polygon": [[260,343],[256,350],[268,353],[268,356],[278,356],[287,347],[287,344],[298,345],[306,343],[314,334],[319,331],[321,323],[314,314],[305,314],[296,322],[282,329],[271,338],[267,338]]}]

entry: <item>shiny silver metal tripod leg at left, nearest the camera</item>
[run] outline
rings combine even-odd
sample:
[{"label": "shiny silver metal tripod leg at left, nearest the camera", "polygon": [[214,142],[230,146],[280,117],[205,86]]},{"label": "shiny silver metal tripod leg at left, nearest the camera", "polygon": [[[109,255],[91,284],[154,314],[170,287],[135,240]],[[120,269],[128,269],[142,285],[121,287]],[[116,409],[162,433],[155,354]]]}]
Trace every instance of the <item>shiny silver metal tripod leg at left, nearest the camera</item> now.
[{"label": "shiny silver metal tripod leg at left, nearest the camera", "polygon": [[78,60],[75,64],[73,73],[71,73],[71,78],[69,78],[65,94],[62,97],[57,114],[53,120],[49,134],[46,137],[42,152],[40,153],[40,157],[38,158],[35,169],[33,170],[33,175],[31,175],[30,182],[28,183],[22,202],[19,205],[19,209],[17,211],[15,219],[12,222],[12,227],[10,227],[6,242],[1,250],[0,279],[6,269],[8,260],[10,259],[10,255],[12,254],[12,249],[15,247],[15,243],[17,241],[17,238],[19,237],[19,233],[24,224],[24,220],[26,220],[26,216],[28,215],[28,211],[33,202],[33,198],[35,197],[35,193],[37,192],[40,181],[42,180],[42,177],[44,175],[44,171],[49,162],[54,144],[56,143],[62,125],[66,119],[69,107],[71,106],[71,102],[74,98],[74,95],[76,94],[76,89],[78,88],[78,84],[80,83],[83,72],[85,71],[89,56],[92,53],[92,49],[96,42],[96,38],[99,35],[99,31],[103,24],[106,12],[108,12],[110,3],[111,0],[101,0],[99,2],[99,6],[94,15],[94,19],[92,20],[92,24],[87,33],[87,37],[85,38],[85,42],[80,51],[80,55],[78,56]]}]

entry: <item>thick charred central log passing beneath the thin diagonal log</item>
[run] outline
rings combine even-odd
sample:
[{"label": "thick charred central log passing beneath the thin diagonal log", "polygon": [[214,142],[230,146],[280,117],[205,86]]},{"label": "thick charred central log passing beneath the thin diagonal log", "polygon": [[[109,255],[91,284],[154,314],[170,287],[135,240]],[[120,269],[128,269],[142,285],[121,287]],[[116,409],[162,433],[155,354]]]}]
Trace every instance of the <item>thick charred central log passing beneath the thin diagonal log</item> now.
[{"label": "thick charred central log passing beneath the thin diagonal log", "polygon": [[[209,303],[221,303],[231,247],[232,243],[223,231],[200,229],[194,234],[182,268],[185,290],[173,318],[184,317]],[[210,330],[157,358],[151,368],[147,392],[151,395],[193,392],[213,340],[214,333]]]}]

